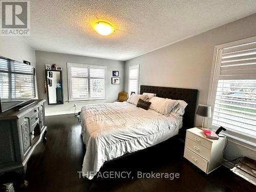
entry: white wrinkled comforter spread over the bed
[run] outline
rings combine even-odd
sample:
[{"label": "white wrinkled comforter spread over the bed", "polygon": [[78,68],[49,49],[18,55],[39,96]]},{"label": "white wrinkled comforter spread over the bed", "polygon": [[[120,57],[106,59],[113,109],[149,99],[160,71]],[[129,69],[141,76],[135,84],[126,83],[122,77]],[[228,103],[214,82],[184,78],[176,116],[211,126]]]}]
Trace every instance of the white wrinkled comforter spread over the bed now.
[{"label": "white wrinkled comforter spread over the bed", "polygon": [[82,138],[87,148],[82,167],[84,176],[92,179],[105,161],[177,135],[181,122],[175,114],[166,117],[127,102],[84,106],[81,110]]}]

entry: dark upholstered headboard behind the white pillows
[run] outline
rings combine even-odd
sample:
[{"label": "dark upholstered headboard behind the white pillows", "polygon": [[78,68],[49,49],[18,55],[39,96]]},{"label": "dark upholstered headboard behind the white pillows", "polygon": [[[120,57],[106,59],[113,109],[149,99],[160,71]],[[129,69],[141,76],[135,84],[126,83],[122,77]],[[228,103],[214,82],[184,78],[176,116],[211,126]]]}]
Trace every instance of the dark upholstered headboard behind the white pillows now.
[{"label": "dark upholstered headboard behind the white pillows", "polygon": [[140,86],[140,94],[143,94],[144,92],[156,93],[157,97],[185,101],[187,103],[187,106],[185,108],[185,114],[183,115],[183,134],[186,132],[187,129],[194,127],[198,90],[184,88]]}]

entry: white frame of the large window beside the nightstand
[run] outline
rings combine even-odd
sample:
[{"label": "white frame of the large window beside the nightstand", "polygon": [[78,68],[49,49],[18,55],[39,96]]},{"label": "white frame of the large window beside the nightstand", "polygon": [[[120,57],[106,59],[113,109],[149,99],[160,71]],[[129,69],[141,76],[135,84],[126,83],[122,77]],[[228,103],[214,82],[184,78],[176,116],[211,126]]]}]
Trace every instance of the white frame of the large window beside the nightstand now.
[{"label": "white frame of the large window beside the nightstand", "polygon": [[[220,76],[220,70],[221,70],[221,59],[222,59],[222,51],[224,48],[229,47],[235,47],[242,44],[248,44],[250,42],[256,41],[256,36],[237,40],[233,42],[228,42],[227,44],[222,44],[215,46],[214,50],[214,58],[212,63],[212,69],[211,69],[211,76],[210,76],[210,83],[209,83],[209,91],[208,91],[208,98],[207,98],[207,104],[212,106],[211,111],[211,118],[206,119],[206,125],[207,127],[211,127],[212,130],[217,130],[218,127],[215,125],[212,125],[212,116],[214,113],[214,106],[215,106],[215,100],[216,100],[216,94],[217,94],[217,86],[218,86],[218,80]],[[248,78],[249,79],[249,78]],[[242,144],[249,145],[249,146],[256,146],[255,139],[252,137],[249,137],[247,135],[227,130],[225,132],[221,132],[222,134],[226,135],[228,138],[231,138],[231,140],[239,141]]]}]

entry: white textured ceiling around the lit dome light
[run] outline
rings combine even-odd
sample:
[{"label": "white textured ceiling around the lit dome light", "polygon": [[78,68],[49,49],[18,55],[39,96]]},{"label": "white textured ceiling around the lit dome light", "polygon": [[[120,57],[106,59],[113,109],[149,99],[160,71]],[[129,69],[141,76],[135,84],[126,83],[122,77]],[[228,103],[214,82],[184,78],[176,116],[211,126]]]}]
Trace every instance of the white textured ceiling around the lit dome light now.
[{"label": "white textured ceiling around the lit dome light", "polygon": [[[31,1],[36,50],[128,60],[256,12],[255,0]],[[98,20],[116,31],[101,36]]]}]

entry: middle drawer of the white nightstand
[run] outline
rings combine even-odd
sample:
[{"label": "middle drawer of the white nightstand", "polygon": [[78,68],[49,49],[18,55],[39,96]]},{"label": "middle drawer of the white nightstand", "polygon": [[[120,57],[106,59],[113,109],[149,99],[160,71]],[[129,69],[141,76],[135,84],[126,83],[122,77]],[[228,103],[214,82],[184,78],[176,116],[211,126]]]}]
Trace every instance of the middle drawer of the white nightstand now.
[{"label": "middle drawer of the white nightstand", "polygon": [[206,160],[210,160],[210,150],[191,139],[186,139],[186,147]]}]

